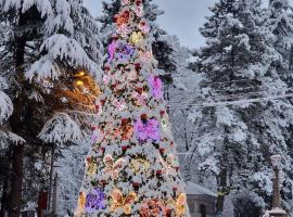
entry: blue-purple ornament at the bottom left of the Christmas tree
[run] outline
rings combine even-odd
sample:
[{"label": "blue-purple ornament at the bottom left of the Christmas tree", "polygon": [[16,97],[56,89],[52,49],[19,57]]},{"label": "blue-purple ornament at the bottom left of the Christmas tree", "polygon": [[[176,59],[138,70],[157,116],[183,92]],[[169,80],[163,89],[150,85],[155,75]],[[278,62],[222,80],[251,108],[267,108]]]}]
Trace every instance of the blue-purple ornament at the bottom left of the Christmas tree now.
[{"label": "blue-purple ornament at the bottom left of the Christmas tree", "polygon": [[94,188],[87,195],[86,212],[94,213],[99,209],[105,208],[105,194],[99,188]]}]

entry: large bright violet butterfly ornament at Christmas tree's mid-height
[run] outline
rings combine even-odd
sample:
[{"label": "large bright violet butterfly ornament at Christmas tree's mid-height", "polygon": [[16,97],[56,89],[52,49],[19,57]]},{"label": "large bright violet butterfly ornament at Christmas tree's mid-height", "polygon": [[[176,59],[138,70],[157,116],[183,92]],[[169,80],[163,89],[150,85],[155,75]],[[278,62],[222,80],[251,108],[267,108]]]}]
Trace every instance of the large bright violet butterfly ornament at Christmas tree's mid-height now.
[{"label": "large bright violet butterfly ornament at Christmas tree's mid-height", "polygon": [[138,119],[135,123],[135,132],[140,141],[146,141],[148,139],[155,142],[160,141],[160,130],[158,122],[154,118],[151,118],[143,123],[141,119]]}]

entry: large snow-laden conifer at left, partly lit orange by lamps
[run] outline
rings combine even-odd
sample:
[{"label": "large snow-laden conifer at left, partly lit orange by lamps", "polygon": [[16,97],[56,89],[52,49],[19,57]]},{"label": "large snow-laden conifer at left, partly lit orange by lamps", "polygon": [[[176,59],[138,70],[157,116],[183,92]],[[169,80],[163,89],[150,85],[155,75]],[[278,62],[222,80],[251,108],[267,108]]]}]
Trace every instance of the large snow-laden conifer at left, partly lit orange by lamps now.
[{"label": "large snow-laden conifer at left, partly lit orange by lamps", "polygon": [[79,140],[90,119],[80,111],[94,111],[101,44],[98,25],[81,3],[0,1],[0,75],[8,81],[14,106],[8,124],[26,141],[25,149],[11,143],[9,216],[20,216],[25,150],[39,152],[36,146],[41,148],[42,141],[65,144]]}]

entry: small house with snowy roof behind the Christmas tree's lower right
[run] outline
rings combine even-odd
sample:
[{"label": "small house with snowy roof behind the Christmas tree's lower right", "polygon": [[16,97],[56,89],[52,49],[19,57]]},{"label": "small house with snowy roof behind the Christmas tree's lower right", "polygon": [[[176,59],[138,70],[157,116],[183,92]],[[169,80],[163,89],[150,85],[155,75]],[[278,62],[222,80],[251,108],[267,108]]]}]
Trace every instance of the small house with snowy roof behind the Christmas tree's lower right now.
[{"label": "small house with snowy roof behind the Christmas tree's lower right", "polygon": [[187,183],[187,199],[191,217],[215,217],[217,195],[196,183]]}]

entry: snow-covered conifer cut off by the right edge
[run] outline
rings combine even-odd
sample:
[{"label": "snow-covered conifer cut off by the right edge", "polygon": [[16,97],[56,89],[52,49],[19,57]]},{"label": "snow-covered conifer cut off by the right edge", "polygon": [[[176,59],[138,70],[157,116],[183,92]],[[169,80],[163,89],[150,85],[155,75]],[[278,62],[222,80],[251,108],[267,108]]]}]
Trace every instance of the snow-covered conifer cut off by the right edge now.
[{"label": "snow-covered conifer cut off by the right edge", "polygon": [[[271,0],[267,10],[267,25],[275,35],[275,49],[280,53],[281,60],[270,68],[270,79],[267,86],[270,92],[292,92],[292,36],[293,36],[293,11],[288,0]],[[293,179],[292,179],[292,100],[281,99],[271,101],[265,111],[266,120],[276,118],[267,131],[268,138],[272,138],[278,145],[275,152],[283,156],[284,177],[282,179],[282,199],[289,214],[292,215],[293,205]],[[277,126],[276,126],[277,125]],[[273,133],[273,131],[276,131]]]}]

